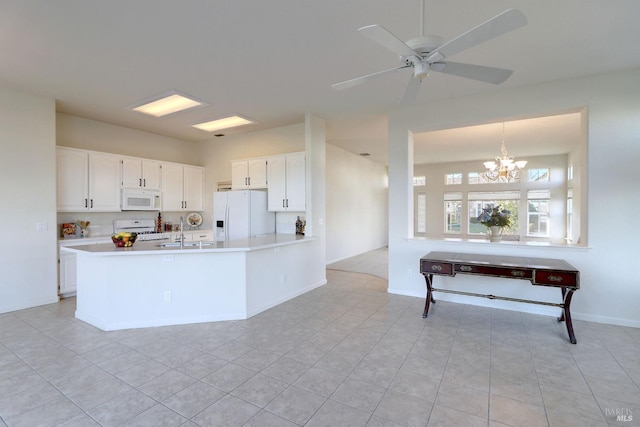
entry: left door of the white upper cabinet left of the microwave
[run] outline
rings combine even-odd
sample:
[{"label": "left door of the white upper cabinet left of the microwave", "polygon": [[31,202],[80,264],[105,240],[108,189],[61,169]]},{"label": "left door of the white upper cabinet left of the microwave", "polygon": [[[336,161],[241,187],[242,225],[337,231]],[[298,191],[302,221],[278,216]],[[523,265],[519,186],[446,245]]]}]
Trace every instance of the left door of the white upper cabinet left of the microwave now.
[{"label": "left door of the white upper cabinet left of the microwave", "polygon": [[83,151],[58,148],[58,212],[81,212],[89,208],[89,155]]}]

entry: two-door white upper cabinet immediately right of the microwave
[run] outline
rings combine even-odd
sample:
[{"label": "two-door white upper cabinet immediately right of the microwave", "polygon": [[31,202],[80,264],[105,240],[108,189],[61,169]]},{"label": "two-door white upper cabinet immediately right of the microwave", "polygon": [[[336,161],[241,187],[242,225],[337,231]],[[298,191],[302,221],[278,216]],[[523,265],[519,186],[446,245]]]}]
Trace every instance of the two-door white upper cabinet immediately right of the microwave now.
[{"label": "two-door white upper cabinet immediately right of the microwave", "polygon": [[162,210],[203,211],[204,169],[198,166],[163,163]]}]

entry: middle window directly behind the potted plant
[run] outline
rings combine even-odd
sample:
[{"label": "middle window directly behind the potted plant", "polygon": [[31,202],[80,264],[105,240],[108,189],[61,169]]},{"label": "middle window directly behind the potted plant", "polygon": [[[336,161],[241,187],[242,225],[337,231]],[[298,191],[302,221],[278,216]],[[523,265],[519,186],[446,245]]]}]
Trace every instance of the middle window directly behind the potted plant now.
[{"label": "middle window directly behind the potted plant", "polygon": [[469,234],[485,234],[487,227],[478,221],[478,216],[485,207],[500,206],[511,212],[511,225],[505,228],[505,234],[518,234],[518,203],[519,191],[495,191],[495,192],[469,192]]}]

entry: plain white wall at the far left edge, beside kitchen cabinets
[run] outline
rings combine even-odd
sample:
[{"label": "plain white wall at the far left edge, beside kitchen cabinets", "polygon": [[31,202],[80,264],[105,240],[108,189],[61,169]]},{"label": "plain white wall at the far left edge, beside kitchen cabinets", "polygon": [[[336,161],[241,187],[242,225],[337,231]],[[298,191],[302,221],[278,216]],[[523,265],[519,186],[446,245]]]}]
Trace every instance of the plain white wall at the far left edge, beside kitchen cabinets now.
[{"label": "plain white wall at the far left edge, beside kitchen cabinets", "polygon": [[0,87],[0,313],[58,300],[55,148],[54,101]]}]

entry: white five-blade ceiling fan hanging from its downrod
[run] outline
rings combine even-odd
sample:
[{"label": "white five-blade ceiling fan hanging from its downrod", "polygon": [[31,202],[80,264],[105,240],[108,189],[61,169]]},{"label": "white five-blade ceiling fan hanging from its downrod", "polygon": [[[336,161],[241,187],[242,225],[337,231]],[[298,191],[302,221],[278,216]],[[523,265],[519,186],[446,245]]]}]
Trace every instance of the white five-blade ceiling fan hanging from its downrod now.
[{"label": "white five-blade ceiling fan hanging from its downrod", "polygon": [[527,24],[527,18],[522,12],[517,9],[507,9],[466,33],[444,43],[441,37],[424,35],[424,2],[422,3],[420,21],[422,35],[407,42],[400,40],[382,25],[368,25],[358,29],[364,36],[400,55],[402,65],[336,83],[331,87],[336,90],[346,89],[395,71],[413,69],[413,76],[409,80],[409,84],[400,100],[401,104],[408,104],[417,96],[420,82],[429,74],[429,71],[500,84],[511,76],[512,70],[450,62],[448,58]]}]

